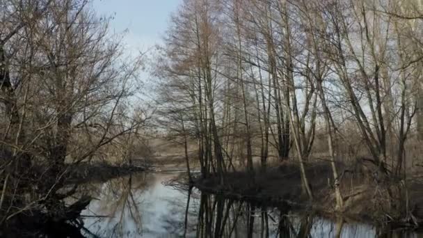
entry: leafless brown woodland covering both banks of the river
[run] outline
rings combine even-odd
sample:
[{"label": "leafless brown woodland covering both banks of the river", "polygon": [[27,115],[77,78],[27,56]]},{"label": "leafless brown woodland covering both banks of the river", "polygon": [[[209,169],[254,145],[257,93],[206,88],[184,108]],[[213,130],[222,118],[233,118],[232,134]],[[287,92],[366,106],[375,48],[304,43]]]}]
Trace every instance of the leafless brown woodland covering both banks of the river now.
[{"label": "leafless brown woodland covering both banks of the river", "polygon": [[154,140],[201,191],[423,224],[422,0],[183,0],[151,54],[111,21],[0,1],[3,230],[81,227],[79,182],[166,164]]}]

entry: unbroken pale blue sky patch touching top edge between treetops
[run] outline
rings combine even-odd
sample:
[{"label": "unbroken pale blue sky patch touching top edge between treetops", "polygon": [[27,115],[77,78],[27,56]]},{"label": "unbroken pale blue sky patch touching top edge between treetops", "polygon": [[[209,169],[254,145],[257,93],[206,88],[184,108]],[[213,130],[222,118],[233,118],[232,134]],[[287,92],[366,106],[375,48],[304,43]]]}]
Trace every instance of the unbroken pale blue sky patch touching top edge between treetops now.
[{"label": "unbroken pale blue sky patch touching top edge between treetops", "polygon": [[128,29],[125,44],[129,50],[145,51],[159,43],[167,29],[170,13],[182,0],[93,0],[99,15],[114,16],[111,28]]}]

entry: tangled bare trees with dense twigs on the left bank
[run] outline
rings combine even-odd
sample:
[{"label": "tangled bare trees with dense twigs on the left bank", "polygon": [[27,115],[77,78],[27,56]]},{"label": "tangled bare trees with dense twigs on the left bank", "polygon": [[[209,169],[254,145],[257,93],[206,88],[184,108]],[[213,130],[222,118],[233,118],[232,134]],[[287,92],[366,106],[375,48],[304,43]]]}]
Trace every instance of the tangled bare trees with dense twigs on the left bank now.
[{"label": "tangled bare trees with dense twigs on the left bank", "polygon": [[[108,19],[97,18],[88,1],[1,4],[2,22],[10,22],[0,26],[5,221],[43,204],[56,209],[75,191],[60,191],[70,167],[136,132],[145,118],[124,110],[141,58],[125,61]],[[20,197],[25,189],[29,200]]]}]

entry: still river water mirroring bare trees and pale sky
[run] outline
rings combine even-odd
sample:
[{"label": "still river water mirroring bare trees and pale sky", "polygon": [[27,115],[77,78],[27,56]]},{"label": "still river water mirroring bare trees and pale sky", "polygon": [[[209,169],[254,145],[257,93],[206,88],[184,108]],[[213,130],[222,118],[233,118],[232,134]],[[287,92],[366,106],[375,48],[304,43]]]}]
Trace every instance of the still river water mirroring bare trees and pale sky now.
[{"label": "still river water mirroring bare trees and pale sky", "polygon": [[188,191],[169,182],[178,173],[141,173],[84,193],[97,198],[82,212],[86,237],[423,237],[365,223],[330,221],[313,214]]}]

